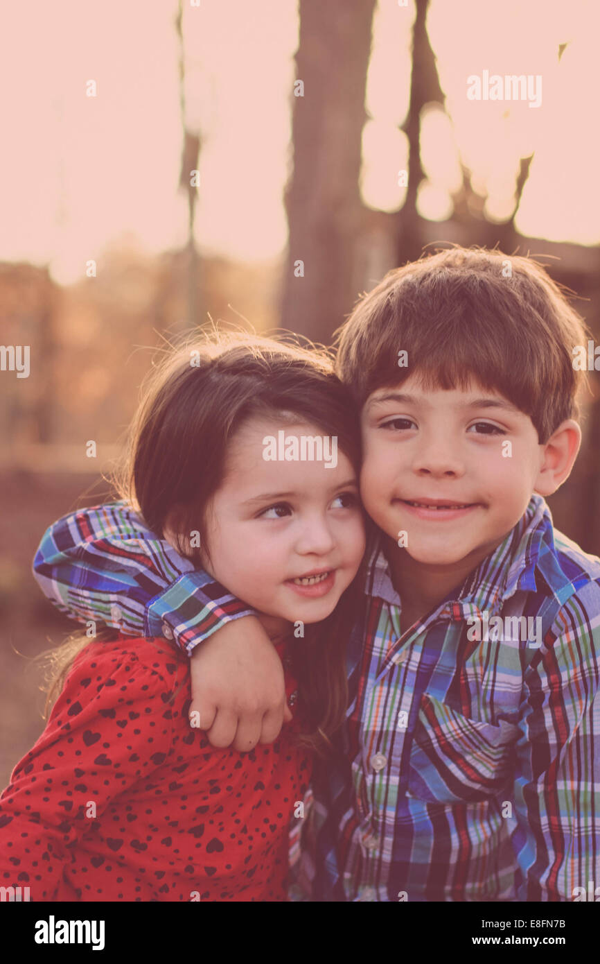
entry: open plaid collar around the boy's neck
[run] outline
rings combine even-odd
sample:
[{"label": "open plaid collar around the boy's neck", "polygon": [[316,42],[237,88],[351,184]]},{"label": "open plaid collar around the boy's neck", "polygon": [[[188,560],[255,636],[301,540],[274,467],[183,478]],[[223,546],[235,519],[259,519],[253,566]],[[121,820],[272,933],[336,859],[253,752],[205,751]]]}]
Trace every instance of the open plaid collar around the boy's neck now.
[{"label": "open plaid collar around the boy's neck", "polygon": [[[456,587],[436,609],[451,619],[497,614],[503,603],[518,590],[535,592],[535,569],[547,533],[552,532],[552,516],[545,499],[532,495],[522,518],[510,529],[499,546]],[[365,593],[386,603],[401,605],[392,584],[389,565],[383,553],[382,534],[374,536],[369,556]]]}]

